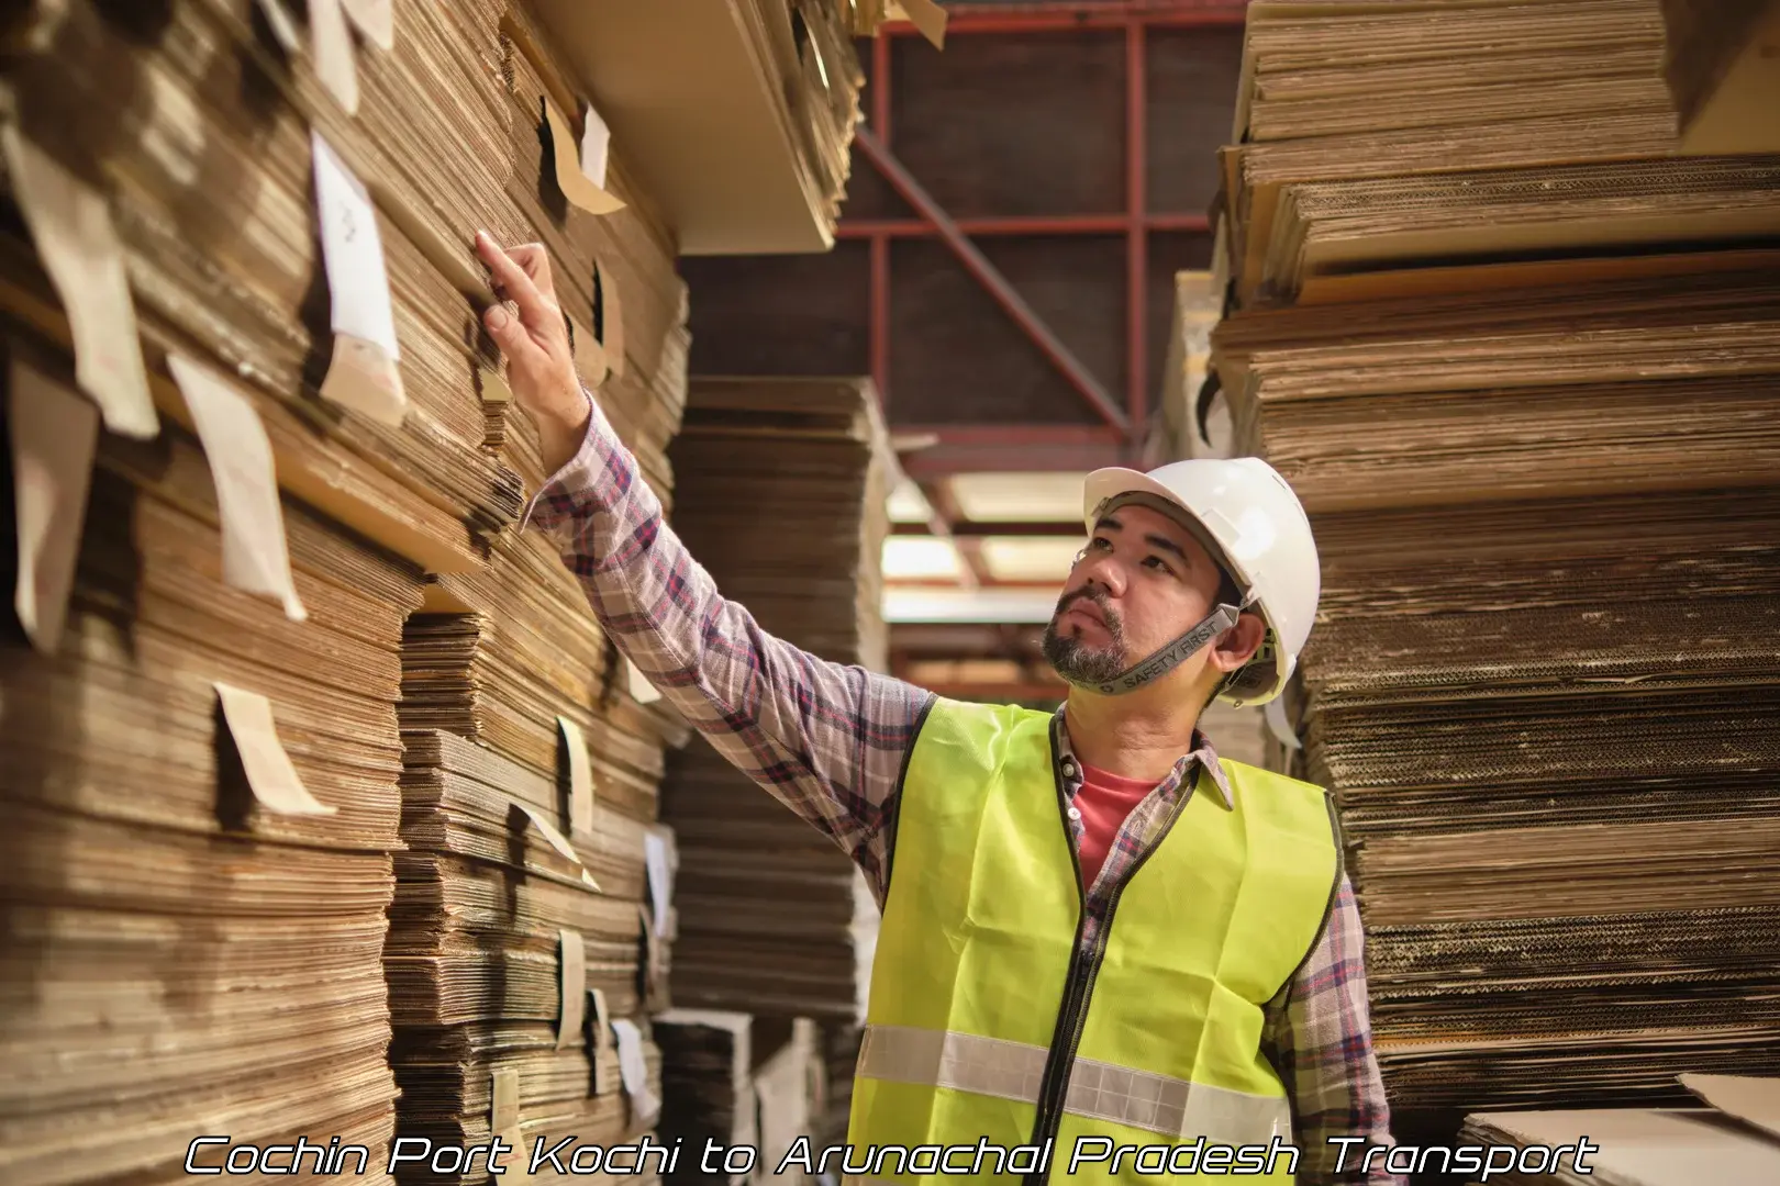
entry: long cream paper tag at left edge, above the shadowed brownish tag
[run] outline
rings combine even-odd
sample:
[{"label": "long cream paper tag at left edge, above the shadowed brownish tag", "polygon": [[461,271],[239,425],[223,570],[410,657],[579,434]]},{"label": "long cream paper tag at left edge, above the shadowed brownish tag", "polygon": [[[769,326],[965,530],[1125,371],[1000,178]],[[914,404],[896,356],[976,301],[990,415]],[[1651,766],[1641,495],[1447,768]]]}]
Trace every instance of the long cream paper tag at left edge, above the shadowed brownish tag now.
[{"label": "long cream paper tag at left edge, above the shadowed brownish tag", "polygon": [[160,418],[148,389],[123,244],[105,196],[20,135],[12,123],[0,124],[0,146],[12,197],[68,313],[75,382],[117,436],[139,441],[157,436]]}]

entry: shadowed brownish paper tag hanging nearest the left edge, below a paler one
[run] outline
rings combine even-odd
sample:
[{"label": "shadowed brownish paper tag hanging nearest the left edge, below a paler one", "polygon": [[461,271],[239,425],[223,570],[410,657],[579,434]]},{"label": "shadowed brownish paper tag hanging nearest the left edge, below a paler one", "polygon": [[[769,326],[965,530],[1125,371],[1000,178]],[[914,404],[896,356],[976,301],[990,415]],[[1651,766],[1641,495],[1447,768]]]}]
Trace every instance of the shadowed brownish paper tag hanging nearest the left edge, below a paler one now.
[{"label": "shadowed brownish paper tag hanging nearest the left edge, below a paler one", "polygon": [[7,388],[18,589],[12,608],[39,654],[55,654],[93,489],[100,411],[14,354]]}]

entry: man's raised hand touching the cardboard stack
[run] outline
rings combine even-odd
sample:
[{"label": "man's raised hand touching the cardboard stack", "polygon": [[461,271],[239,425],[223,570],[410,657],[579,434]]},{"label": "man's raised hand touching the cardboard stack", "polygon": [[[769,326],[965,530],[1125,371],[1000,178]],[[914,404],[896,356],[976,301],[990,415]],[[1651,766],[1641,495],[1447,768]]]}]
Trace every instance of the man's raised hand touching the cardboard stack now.
[{"label": "man's raised hand touching the cardboard stack", "polygon": [[477,231],[475,252],[488,265],[495,297],[502,301],[490,306],[482,324],[507,359],[513,398],[538,425],[545,473],[555,473],[580,448],[591,409],[575,375],[575,354],[550,281],[550,256],[538,244],[502,251],[488,231]]}]

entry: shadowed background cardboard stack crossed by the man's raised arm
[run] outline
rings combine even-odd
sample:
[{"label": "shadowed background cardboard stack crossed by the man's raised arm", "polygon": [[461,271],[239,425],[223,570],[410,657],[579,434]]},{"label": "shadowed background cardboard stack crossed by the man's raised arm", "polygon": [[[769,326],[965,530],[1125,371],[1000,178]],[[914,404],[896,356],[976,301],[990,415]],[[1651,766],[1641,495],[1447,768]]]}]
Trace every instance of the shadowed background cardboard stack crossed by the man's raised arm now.
[{"label": "shadowed background cardboard stack crossed by the man's raised arm", "polygon": [[[886,437],[867,381],[694,379],[673,446],[675,528],[760,626],[883,670],[876,599],[888,530]],[[675,1001],[858,1015],[858,871],[833,841],[708,745],[669,772],[680,845]]]}]

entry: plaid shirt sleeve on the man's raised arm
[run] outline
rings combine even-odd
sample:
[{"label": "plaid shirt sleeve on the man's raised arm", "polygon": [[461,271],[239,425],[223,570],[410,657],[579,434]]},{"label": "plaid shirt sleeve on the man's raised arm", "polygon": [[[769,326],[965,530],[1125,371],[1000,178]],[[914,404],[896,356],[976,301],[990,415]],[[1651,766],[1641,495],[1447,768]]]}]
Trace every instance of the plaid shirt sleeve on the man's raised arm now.
[{"label": "plaid shirt sleeve on the man's raised arm", "polygon": [[931,693],[799,651],[724,599],[589,402],[580,450],[532,498],[522,530],[546,533],[602,628],[662,697],[878,887],[902,754]]}]

